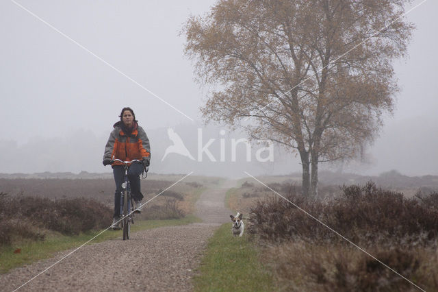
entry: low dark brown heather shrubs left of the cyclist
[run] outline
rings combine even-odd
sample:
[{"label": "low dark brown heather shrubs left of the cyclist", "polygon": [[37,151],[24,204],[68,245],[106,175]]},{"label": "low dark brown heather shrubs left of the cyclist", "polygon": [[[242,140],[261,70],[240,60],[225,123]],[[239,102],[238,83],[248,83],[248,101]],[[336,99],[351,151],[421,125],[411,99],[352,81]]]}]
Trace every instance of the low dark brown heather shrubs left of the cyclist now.
[{"label": "low dark brown heather shrubs left of the cyclist", "polygon": [[108,227],[112,210],[91,199],[60,199],[0,196],[1,244],[15,237],[44,239],[40,230],[79,234]]}]

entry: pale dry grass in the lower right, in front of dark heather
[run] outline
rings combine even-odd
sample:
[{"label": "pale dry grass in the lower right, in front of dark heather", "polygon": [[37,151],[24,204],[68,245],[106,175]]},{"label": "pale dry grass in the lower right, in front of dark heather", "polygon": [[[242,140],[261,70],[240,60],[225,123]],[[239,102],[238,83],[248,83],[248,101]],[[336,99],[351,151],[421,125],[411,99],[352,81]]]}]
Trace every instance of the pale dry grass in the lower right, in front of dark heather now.
[{"label": "pale dry grass in the lower right, in front of dark heather", "polygon": [[[374,247],[368,252],[426,291],[437,290],[435,250]],[[274,271],[280,291],[418,291],[351,246],[294,241],[268,247],[263,260]]]}]

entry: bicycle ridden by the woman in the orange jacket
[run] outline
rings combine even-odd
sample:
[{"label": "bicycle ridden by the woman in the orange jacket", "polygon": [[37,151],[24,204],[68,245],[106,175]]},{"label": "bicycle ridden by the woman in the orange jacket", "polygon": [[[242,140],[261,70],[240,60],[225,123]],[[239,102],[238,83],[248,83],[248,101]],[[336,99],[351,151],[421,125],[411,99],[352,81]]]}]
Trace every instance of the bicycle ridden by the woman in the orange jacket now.
[{"label": "bicycle ridden by the woman in the orange jacket", "polygon": [[[122,162],[125,166],[125,181],[122,183],[122,194],[120,195],[120,214],[122,215],[123,240],[129,239],[131,232],[131,223],[134,223],[133,217],[136,210],[134,210],[134,199],[131,197],[131,183],[128,180],[128,165],[132,162],[141,162],[142,160],[134,159],[132,161],[123,161],[120,159],[113,159],[114,161]],[[146,173],[147,170],[145,169]]]}]

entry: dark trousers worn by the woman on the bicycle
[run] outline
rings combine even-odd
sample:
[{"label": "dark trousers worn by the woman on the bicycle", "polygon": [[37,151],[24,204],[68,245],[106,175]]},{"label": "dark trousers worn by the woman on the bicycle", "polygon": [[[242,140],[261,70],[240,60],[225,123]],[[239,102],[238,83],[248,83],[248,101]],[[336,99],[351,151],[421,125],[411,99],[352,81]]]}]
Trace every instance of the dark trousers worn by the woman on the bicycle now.
[{"label": "dark trousers worn by the woman on the bicycle", "polygon": [[[125,167],[123,165],[114,165],[114,182],[116,182],[116,193],[114,193],[114,217],[120,216],[120,194],[123,191],[122,184],[125,182]],[[141,201],[143,195],[140,192],[140,174],[143,172],[143,164],[133,162],[128,169],[128,180],[131,184],[131,196],[136,201]]]}]

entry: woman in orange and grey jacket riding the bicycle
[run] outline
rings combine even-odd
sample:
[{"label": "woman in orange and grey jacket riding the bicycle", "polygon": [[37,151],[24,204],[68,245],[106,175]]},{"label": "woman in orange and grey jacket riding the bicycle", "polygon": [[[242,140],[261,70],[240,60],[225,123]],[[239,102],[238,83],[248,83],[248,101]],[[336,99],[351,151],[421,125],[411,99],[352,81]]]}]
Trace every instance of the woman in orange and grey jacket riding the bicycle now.
[{"label": "woman in orange and grey jacket riding the bicycle", "polygon": [[[143,195],[140,192],[140,174],[146,167],[149,167],[151,160],[151,147],[149,138],[143,128],[138,125],[136,115],[131,108],[123,108],[120,113],[120,121],[114,124],[114,130],[108,138],[103,154],[103,165],[110,165],[112,160],[120,159],[131,161],[134,159],[142,162],[133,162],[129,165],[128,178],[131,184],[131,195],[136,202],[136,210],[140,212],[140,202]],[[120,193],[123,191],[125,167],[121,162],[113,162],[112,169],[114,181],[116,182],[116,193],[114,193],[114,220],[113,228],[118,228],[120,217]]]}]

